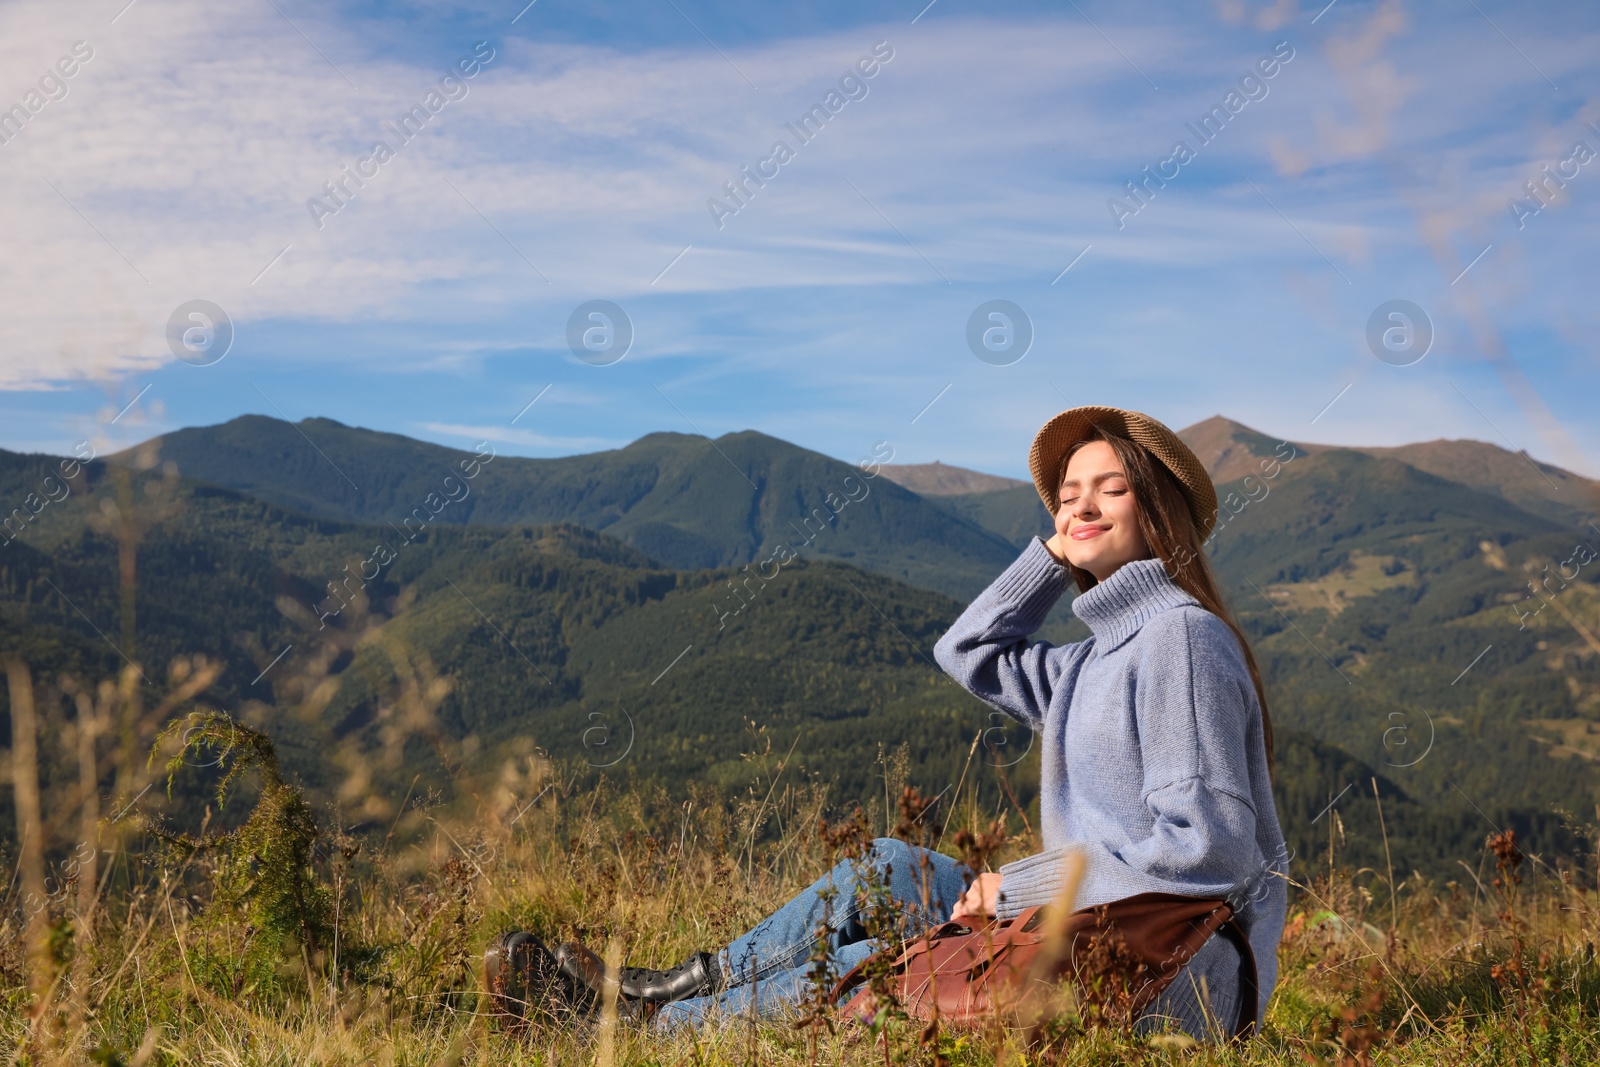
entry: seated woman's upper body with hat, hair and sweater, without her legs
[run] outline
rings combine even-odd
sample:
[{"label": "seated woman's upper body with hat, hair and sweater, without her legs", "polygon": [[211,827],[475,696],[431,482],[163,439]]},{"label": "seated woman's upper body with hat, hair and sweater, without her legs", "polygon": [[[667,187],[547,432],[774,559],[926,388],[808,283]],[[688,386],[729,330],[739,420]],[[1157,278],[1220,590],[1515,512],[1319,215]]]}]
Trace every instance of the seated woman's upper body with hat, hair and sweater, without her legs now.
[{"label": "seated woman's upper body with hat, hair and sweater, without her legs", "polygon": [[[962,910],[1016,915],[1086,853],[1075,905],[1141,893],[1224,897],[1245,928],[1258,1019],[1277,984],[1288,902],[1261,673],[1203,542],[1216,490],[1176,434],[1120,408],[1062,411],[1034,438],[1056,533],[1034,539],[934,648],[987,704],[1042,734],[1045,853],[981,875]],[[1027,637],[1066,592],[1086,641]],[[1229,1032],[1240,953],[1213,936],[1152,1008],[1192,1037]]]}]

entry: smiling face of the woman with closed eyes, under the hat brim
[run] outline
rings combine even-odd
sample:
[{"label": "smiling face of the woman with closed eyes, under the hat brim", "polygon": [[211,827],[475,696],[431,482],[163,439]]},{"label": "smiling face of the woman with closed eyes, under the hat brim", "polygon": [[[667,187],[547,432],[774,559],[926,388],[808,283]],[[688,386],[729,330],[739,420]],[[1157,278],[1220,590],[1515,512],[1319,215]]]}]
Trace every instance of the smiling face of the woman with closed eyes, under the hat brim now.
[{"label": "smiling face of the woman with closed eyes, under the hat brim", "polygon": [[1067,561],[1096,581],[1104,582],[1123,563],[1150,555],[1128,477],[1106,442],[1090,442],[1074,453],[1058,496],[1056,533]]}]

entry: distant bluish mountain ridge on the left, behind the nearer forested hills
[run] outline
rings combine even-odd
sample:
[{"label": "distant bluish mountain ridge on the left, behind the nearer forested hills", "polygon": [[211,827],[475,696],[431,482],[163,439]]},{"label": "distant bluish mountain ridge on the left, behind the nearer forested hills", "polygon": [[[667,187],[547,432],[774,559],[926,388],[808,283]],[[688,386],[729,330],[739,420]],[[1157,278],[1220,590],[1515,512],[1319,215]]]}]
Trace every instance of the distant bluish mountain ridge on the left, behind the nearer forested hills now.
[{"label": "distant bluish mountain ridge on the left, behind the nearer forested hills", "polygon": [[[331,419],[245,416],[168,434],[160,458],[189,478],[307,515],[406,530],[434,512],[432,522],[446,525],[570,522],[678,568],[758,563],[787,544],[806,558],[848,560],[970,597],[1013,555],[981,526],[870,477],[872,464],[862,470],[754,430],[715,442],[650,434],[606,453],[482,462]],[[459,478],[464,461],[482,466],[470,486]]]}]

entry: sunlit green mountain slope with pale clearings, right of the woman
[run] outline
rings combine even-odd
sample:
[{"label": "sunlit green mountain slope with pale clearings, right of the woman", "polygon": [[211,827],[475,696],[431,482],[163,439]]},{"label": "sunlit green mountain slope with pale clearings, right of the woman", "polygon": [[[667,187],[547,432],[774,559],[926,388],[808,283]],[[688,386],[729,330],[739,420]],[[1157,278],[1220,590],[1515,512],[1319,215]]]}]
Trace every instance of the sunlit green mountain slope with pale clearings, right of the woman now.
[{"label": "sunlit green mountain slope with pale clearings, right of the woman", "polygon": [[[1394,459],[1328,451],[1286,466],[1222,528],[1213,561],[1286,721],[1394,765],[1430,800],[1587,811],[1594,769],[1552,758],[1530,723],[1592,715],[1594,657],[1555,611],[1520,629],[1514,608],[1530,571],[1578,541]],[[1594,614],[1594,574],[1565,597]]]}]

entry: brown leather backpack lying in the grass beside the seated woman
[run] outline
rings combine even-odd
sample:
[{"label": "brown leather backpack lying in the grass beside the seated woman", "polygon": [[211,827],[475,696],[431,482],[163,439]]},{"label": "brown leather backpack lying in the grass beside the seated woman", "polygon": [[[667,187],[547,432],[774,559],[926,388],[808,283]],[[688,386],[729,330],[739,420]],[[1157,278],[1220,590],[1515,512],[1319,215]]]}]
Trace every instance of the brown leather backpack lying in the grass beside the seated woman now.
[{"label": "brown leather backpack lying in the grass beside the seated woman", "polygon": [[[1234,1037],[1256,1029],[1256,957],[1250,939],[1222,899],[1142,893],[1123,901],[1080,909],[1056,920],[1048,909],[1030,907],[1008,920],[941,923],[906,942],[890,965],[891,990],[914,1019],[942,1021],[974,1029],[998,1014],[1014,1014],[1034,992],[1074,979],[1080,998],[1115,998],[1131,1021],[1139,1016],[1200,945],[1221,933],[1240,955],[1238,1019]],[[880,960],[893,949],[874,957]],[[834,985],[834,1003],[845,1017],[870,1021],[878,1009],[870,985],[862,985],[866,960]]]}]

